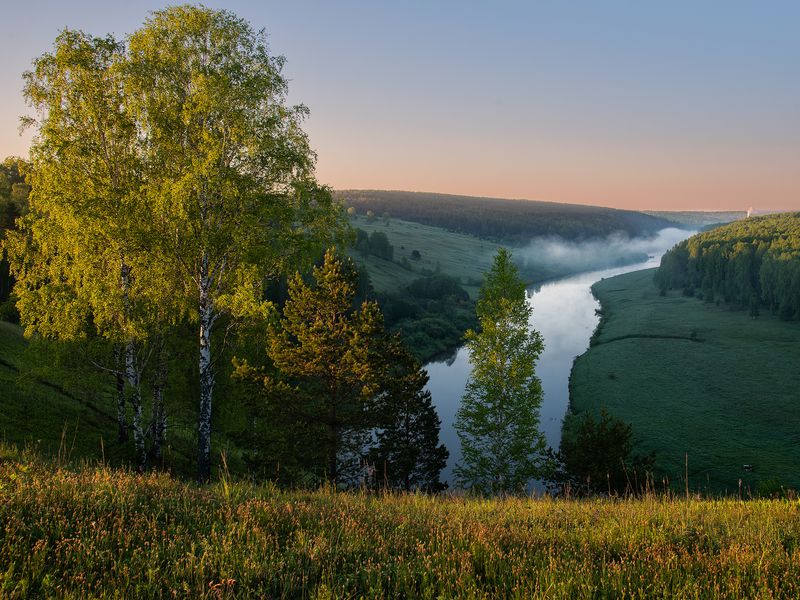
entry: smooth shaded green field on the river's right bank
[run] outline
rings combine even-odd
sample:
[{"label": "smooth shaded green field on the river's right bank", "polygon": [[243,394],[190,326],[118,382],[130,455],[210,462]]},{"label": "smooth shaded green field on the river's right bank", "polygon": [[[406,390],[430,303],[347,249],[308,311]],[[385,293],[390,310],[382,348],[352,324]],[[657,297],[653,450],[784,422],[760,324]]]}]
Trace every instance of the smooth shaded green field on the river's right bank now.
[{"label": "smooth shaded green field on the river's right bank", "polygon": [[630,423],[681,488],[686,454],[693,490],[800,488],[800,323],[661,297],[653,273],[593,287],[603,320],[573,367],[573,410],[604,406]]}]

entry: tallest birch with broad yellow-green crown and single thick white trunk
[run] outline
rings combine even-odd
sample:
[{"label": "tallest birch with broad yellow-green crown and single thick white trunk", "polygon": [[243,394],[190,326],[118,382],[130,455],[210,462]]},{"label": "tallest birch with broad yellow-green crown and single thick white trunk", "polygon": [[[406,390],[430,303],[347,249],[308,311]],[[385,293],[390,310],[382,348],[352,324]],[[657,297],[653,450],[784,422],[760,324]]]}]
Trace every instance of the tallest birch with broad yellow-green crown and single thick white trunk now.
[{"label": "tallest birch with broad yellow-green crown and single thick white trunk", "polygon": [[155,251],[198,327],[201,482],[220,317],[266,310],[265,278],[318,255],[339,223],[313,178],[307,110],[286,102],[283,63],[263,32],[205,7],[156,11],[129,40],[126,91],[149,165]]}]

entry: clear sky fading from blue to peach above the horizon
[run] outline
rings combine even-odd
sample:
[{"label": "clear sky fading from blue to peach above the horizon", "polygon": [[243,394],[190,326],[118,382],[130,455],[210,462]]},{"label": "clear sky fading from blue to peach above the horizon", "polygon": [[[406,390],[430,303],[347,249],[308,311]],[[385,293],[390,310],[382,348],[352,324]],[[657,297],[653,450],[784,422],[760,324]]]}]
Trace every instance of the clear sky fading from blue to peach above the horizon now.
[{"label": "clear sky fading from blue to peach above the horizon", "polygon": [[[317,177],[641,210],[800,210],[800,2],[205,2],[286,57]],[[118,37],[150,0],[2,9],[0,157],[21,75],[64,27]]]}]

